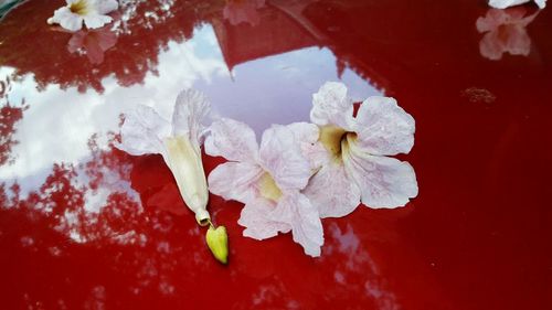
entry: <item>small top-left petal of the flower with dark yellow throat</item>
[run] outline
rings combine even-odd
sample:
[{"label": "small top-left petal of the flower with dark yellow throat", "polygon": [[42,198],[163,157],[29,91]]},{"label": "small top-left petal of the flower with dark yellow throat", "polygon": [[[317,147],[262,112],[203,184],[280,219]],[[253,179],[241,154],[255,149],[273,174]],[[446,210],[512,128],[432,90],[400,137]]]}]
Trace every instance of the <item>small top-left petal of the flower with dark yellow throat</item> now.
[{"label": "small top-left petal of the flower with dark yellow throat", "polygon": [[342,83],[327,82],[312,95],[310,120],[319,126],[335,125],[349,131],[353,101]]}]

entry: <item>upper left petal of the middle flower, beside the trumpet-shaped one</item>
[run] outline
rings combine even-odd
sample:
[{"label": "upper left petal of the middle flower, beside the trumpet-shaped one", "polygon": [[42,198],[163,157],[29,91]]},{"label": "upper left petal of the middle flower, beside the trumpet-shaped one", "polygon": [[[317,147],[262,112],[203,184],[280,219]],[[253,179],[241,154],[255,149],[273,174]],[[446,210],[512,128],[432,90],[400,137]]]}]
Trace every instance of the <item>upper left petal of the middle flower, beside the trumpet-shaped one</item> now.
[{"label": "upper left petal of the middle flower, beside the trumpet-shaped one", "polygon": [[205,139],[205,152],[231,161],[256,162],[258,145],[255,132],[247,125],[230,118],[214,121]]}]

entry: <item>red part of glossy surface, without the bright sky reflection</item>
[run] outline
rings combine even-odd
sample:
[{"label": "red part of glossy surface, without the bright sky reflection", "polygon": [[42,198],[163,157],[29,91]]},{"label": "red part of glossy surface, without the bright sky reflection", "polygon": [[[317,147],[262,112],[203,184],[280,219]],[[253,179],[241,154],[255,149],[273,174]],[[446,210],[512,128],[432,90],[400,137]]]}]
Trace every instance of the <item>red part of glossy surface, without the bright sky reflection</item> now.
[{"label": "red part of glossy surface, without the bright sky reflection", "polygon": [[[141,82],[155,71],[163,44],[189,38],[200,21],[214,24],[230,67],[270,51],[327,46],[342,66],[384,88],[415,117],[408,161],[420,196],[400,210],[360,207],[325,220],[320,259],[302,255],[289,235],[242,237],[242,206],[212,196],[210,210],[230,234],[230,265],[223,267],[176,197],[160,157],[99,149],[92,137],[82,167],[55,165],[25,196],[18,185],[0,188],[2,308],[552,307],[552,209],[545,197],[552,175],[550,10],[527,29],[527,57],[489,61],[479,54],[475,25],[487,12],[485,1],[266,1],[256,26],[224,22],[223,1],[194,3],[193,14],[177,1],[153,35],[141,25],[148,22],[144,12],[161,10],[155,3],[136,7],[140,26],[119,36],[96,71],[55,50],[65,49],[68,35],[39,26],[52,11],[46,7],[57,3],[31,1],[10,13],[4,22],[11,29],[31,13],[41,23],[17,35],[0,28],[0,55],[18,74],[34,73],[42,87],[96,88],[112,72],[123,86]],[[275,20],[282,22],[263,26]],[[276,26],[283,33],[299,29],[300,40],[272,38]],[[236,44],[240,28],[264,45]],[[44,39],[40,46],[60,47],[31,49],[34,38]],[[36,49],[46,62],[26,57]],[[15,127],[2,129],[2,139]],[[211,170],[220,159],[205,161]],[[87,210],[89,193],[103,189],[110,190],[103,207]]]}]

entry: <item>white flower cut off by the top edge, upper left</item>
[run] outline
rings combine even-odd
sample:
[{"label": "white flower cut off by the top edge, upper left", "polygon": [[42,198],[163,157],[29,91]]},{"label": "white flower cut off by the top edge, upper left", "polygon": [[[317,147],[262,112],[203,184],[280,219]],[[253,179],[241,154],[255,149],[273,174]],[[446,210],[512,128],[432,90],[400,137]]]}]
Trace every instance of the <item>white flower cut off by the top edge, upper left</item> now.
[{"label": "white flower cut off by the top edge, upper left", "polygon": [[107,13],[117,10],[117,0],[65,0],[67,6],[55,10],[49,24],[59,23],[66,30],[78,31],[83,22],[88,29],[100,28],[112,22]]}]

